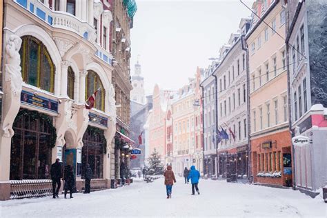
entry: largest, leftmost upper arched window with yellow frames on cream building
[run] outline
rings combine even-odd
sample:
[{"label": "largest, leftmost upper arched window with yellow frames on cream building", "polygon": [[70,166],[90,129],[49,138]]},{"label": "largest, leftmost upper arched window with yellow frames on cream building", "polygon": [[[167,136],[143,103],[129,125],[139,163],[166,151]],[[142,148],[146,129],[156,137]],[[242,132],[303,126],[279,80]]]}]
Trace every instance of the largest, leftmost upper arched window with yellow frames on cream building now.
[{"label": "largest, leftmost upper arched window with yellow frames on cream building", "polygon": [[46,46],[32,36],[21,37],[21,74],[23,81],[54,92],[54,64]]}]

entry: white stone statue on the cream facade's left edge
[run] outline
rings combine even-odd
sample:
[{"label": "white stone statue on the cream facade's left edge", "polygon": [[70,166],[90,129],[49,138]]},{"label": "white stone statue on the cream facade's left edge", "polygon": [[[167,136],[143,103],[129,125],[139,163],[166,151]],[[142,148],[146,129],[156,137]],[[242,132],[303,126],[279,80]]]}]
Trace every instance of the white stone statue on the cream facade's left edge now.
[{"label": "white stone statue on the cream facade's left edge", "polygon": [[3,123],[4,137],[12,137],[14,130],[12,124],[21,106],[21,38],[15,34],[10,35],[6,43],[6,65],[3,81]]}]

